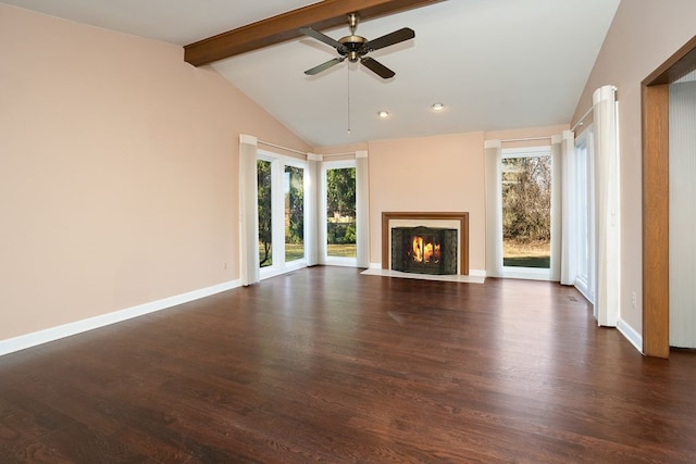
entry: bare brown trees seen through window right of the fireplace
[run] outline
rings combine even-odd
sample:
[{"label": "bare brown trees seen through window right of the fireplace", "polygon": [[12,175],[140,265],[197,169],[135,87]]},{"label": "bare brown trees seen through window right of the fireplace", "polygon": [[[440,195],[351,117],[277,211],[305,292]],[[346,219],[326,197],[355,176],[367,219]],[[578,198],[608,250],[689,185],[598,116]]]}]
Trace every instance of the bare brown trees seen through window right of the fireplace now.
[{"label": "bare brown trees seen through window right of the fireplace", "polygon": [[550,156],[504,160],[502,237],[522,242],[550,240]]}]

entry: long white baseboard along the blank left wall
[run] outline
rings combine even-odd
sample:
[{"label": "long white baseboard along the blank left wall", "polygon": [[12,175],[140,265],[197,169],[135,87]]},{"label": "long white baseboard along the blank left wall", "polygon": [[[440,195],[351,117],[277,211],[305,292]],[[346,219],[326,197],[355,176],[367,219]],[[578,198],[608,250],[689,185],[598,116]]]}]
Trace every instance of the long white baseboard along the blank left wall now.
[{"label": "long white baseboard along the blank left wall", "polygon": [[137,306],[126,308],[124,310],[114,311],[112,313],[101,314],[99,316],[89,317],[82,321],[75,321],[51,328],[47,328],[32,334],[21,335],[18,337],[0,340],[0,356],[49,341],[59,340],[61,338],[82,334],[99,327],[120,323],[133,317],[142,316],[145,314],[154,313],[157,311],[166,310],[178,304],[188,303],[189,301],[200,300],[215,293],[232,290],[241,286],[241,280],[231,280],[227,283],[214,285],[212,287],[202,288],[200,290],[189,291],[187,293],[164,298],[162,300],[152,301]]}]

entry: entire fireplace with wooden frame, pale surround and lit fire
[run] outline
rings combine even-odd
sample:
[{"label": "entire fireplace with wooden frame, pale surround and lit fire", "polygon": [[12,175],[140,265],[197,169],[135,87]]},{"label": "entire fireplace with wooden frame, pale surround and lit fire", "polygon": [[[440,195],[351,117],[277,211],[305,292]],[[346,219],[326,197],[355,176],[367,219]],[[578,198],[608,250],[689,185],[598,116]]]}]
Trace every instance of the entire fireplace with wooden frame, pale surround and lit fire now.
[{"label": "entire fireplace with wooden frame, pale surround and lit fire", "polygon": [[[417,241],[415,248],[420,251],[413,251],[413,239],[405,239],[403,233],[401,233],[400,238],[397,237],[394,239],[393,229],[403,228],[403,229],[418,229],[419,227],[423,227],[425,229],[445,229],[449,230],[447,233],[427,233],[435,234],[437,237],[433,239],[426,239],[423,236],[427,234],[411,234],[423,239],[423,244],[421,244],[420,240]],[[453,234],[452,234],[453,230]],[[411,230],[413,231],[413,230]],[[424,233],[424,230],[419,230]],[[397,233],[398,234],[398,233]],[[443,234],[440,236],[440,234]],[[453,238],[452,238],[453,236]],[[407,244],[403,246],[403,241],[407,240]],[[451,244],[451,241],[455,241],[455,244]],[[412,254],[421,254],[423,259],[426,254],[426,242],[430,241],[432,247],[427,247],[428,259],[431,260],[427,263],[427,266],[424,263],[407,263],[406,266],[409,267],[408,273],[412,274],[458,274],[462,276],[469,275],[469,213],[465,212],[383,212],[382,213],[382,268],[383,269],[393,269],[398,271],[402,264],[396,263],[395,267],[395,258],[394,254],[400,253],[400,258],[397,258],[397,261],[401,261],[403,255],[409,253],[409,248],[411,249]],[[439,243],[439,262],[433,262],[433,256],[435,253],[435,243]],[[399,248],[400,251],[396,251],[393,248],[393,242],[400,242],[401,246]],[[406,247],[406,248],[405,248]],[[432,251],[431,251],[432,248]],[[445,265],[442,264],[443,256],[445,256],[448,261]],[[452,264],[449,262],[450,259],[453,258],[453,271]],[[439,267],[443,265],[444,267],[432,269],[434,267]],[[427,267],[427,268],[426,268]]]}]

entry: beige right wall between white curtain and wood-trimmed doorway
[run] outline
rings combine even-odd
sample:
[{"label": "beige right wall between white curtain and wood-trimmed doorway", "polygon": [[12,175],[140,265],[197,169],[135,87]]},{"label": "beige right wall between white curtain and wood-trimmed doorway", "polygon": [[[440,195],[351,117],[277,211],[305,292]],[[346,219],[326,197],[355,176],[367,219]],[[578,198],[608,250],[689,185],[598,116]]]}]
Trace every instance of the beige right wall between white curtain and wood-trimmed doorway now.
[{"label": "beige right wall between white curtain and wood-trimmed doorway", "polygon": [[[601,48],[573,122],[592,105],[602,85],[618,88],[621,152],[621,318],[643,331],[641,81],[696,33],[693,0],[624,0]],[[631,293],[637,305],[632,308]]]}]

